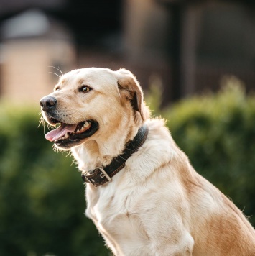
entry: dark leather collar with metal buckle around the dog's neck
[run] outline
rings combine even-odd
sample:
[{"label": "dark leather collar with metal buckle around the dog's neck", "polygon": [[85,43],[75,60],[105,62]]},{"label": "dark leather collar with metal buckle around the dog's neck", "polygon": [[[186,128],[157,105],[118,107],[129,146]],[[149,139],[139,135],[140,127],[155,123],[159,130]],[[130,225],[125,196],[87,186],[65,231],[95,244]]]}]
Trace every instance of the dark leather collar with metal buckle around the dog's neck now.
[{"label": "dark leather collar with metal buckle around the dog's neck", "polygon": [[119,171],[124,168],[126,160],[128,160],[128,158],[144,144],[147,139],[148,132],[149,129],[147,125],[144,124],[139,128],[134,140],[127,142],[121,155],[114,157],[109,165],[88,170],[81,175],[81,178],[83,178],[87,183],[92,183],[95,187],[111,181],[113,175],[119,173]]}]

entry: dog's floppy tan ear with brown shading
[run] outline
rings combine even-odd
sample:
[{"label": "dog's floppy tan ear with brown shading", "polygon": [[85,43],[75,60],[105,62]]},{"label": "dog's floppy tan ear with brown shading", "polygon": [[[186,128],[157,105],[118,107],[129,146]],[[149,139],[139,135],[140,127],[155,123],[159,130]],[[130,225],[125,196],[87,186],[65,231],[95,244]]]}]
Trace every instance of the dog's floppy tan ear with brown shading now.
[{"label": "dog's floppy tan ear with brown shading", "polygon": [[131,106],[134,110],[138,111],[144,121],[149,116],[147,107],[144,104],[144,93],[139,85],[136,77],[124,68],[116,71],[118,87],[124,91],[124,95],[130,100]]}]

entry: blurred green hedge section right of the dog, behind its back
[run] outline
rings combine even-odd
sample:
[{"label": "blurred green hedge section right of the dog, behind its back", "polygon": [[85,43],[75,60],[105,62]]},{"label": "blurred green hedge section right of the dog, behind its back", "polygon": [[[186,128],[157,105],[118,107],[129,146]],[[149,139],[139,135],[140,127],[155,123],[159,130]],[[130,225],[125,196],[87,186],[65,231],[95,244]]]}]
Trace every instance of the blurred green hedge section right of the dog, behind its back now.
[{"label": "blurred green hedge section right of the dog, behind its back", "polygon": [[195,170],[255,225],[255,97],[231,77],[218,93],[184,99],[161,114]]}]

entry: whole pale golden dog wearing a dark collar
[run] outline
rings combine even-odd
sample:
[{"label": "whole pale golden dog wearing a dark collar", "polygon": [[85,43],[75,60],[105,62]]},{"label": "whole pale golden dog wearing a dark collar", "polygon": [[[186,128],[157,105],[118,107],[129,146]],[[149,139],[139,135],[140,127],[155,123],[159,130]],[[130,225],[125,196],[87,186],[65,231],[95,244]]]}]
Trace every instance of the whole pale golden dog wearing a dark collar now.
[{"label": "whole pale golden dog wearing a dark collar", "polygon": [[195,172],[129,71],[72,70],[40,101],[45,137],[71,150],[86,215],[114,255],[255,255],[242,212]]}]

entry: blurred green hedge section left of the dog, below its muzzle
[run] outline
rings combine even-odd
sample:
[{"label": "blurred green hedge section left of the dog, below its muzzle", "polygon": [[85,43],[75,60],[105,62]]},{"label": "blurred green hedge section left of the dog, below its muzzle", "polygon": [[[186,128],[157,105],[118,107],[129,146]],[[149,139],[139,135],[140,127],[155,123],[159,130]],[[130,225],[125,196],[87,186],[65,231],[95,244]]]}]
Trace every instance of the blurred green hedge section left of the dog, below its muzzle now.
[{"label": "blurred green hedge section left of the dog, below its muzzle", "polygon": [[52,151],[39,111],[1,104],[0,255],[108,255],[73,158]]}]

